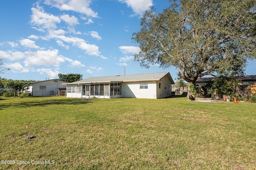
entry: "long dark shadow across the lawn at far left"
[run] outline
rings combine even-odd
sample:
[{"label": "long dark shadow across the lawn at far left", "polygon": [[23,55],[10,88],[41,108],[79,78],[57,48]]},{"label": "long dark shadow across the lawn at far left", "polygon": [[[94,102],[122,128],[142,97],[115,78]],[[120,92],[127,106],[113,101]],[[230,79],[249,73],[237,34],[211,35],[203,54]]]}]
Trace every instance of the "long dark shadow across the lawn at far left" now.
[{"label": "long dark shadow across the lawn at far left", "polygon": [[[28,100],[1,104],[0,109],[8,108],[8,107],[32,107],[32,106],[44,107],[48,105],[64,105],[64,104],[79,105],[79,104],[88,104],[92,102],[92,100],[89,100],[89,99],[81,99],[81,98],[59,98],[58,99],[58,98],[52,98],[51,96],[33,97],[32,100],[30,100],[30,98],[32,97],[28,97]],[[38,99],[38,100],[34,100],[34,99]]]}]

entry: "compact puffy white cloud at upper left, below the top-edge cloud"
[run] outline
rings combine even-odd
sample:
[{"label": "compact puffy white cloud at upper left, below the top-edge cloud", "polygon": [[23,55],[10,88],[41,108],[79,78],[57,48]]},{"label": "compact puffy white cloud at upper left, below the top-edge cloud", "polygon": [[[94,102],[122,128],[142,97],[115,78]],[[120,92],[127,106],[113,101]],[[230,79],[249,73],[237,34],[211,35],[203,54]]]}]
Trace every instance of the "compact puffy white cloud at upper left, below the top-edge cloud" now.
[{"label": "compact puffy white cloud at upper left, below the top-edge cloud", "polygon": [[60,23],[61,21],[58,16],[44,12],[40,6],[37,6],[37,8],[31,8],[31,10],[32,16],[30,22],[32,25],[37,26],[33,28],[38,31],[44,31],[44,29],[56,29],[56,23]]}]

